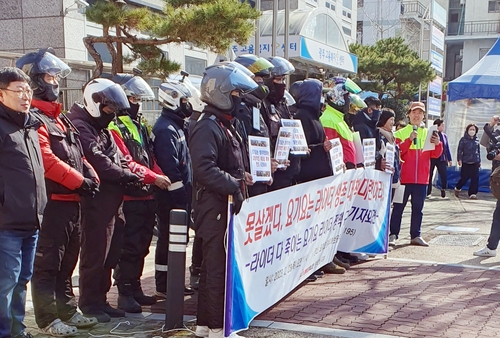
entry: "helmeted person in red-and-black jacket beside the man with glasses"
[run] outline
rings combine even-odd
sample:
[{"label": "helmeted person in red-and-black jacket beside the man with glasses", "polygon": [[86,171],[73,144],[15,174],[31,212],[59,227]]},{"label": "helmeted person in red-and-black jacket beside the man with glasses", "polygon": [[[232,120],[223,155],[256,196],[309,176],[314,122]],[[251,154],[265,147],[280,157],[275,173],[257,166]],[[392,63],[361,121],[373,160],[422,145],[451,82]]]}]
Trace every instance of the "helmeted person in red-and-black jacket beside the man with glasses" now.
[{"label": "helmeted person in red-and-black jacket beside the man with glasses", "polygon": [[59,79],[71,69],[53,50],[28,53],[17,62],[31,78],[33,113],[42,121],[38,129],[45,168],[48,202],[40,229],[32,279],[35,320],[52,336],[76,334],[77,328],[97,324],[77,311],[71,276],[80,252],[81,195],[98,190],[98,177],[83,157],[79,133],[61,114]]}]

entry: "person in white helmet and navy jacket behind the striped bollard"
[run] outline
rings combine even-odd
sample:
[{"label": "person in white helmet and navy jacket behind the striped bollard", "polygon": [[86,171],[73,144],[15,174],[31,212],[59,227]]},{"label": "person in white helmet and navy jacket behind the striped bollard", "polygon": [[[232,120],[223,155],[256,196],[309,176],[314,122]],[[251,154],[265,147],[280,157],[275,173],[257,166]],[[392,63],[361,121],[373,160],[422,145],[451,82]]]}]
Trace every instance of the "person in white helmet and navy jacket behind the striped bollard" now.
[{"label": "person in white helmet and navy jacket behind the striped bollard", "polygon": [[[183,82],[167,80],[158,89],[158,102],[163,107],[153,126],[154,153],[161,170],[170,177],[172,185],[158,191],[158,240],[155,253],[156,297],[165,299],[167,292],[170,211],[191,209],[192,173],[187,146],[186,119],[193,113],[189,102],[192,93]],[[181,292],[181,290],[179,290]],[[185,288],[185,295],[192,295]]]}]

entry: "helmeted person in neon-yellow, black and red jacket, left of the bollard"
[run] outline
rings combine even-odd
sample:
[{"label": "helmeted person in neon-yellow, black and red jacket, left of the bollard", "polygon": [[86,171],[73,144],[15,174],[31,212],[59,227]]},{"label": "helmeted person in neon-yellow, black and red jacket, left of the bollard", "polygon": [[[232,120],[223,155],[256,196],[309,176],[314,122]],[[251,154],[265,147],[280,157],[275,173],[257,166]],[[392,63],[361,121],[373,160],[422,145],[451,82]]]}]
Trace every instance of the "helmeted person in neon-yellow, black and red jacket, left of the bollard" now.
[{"label": "helmeted person in neon-yellow, black and red jacket, left of the bollard", "polygon": [[111,121],[108,129],[125,155],[130,170],[142,178],[141,184],[131,185],[125,191],[124,242],[113,277],[118,287],[118,308],[125,312],[140,313],[142,305],[156,303],[156,297],[145,295],[141,288],[144,259],[153,238],[157,210],[153,187],[167,189],[170,179],[154,161],[153,143],[139,113],[141,101],[154,100],[153,90],[138,75],[116,74],[111,81],[121,85],[130,108],[118,110],[116,119]]}]

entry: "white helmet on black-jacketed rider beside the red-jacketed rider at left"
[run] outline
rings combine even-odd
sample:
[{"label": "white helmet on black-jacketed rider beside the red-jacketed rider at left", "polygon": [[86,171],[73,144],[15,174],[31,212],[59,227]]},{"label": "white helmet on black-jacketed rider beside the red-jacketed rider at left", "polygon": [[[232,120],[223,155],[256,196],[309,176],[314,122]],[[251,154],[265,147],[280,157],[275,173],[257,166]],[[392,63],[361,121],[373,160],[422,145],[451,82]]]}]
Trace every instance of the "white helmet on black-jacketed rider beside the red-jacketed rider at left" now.
[{"label": "white helmet on black-jacketed rider beside the red-jacketed rider at left", "polygon": [[91,80],[83,91],[83,104],[92,117],[101,116],[105,106],[115,111],[130,108],[122,87],[108,79]]}]

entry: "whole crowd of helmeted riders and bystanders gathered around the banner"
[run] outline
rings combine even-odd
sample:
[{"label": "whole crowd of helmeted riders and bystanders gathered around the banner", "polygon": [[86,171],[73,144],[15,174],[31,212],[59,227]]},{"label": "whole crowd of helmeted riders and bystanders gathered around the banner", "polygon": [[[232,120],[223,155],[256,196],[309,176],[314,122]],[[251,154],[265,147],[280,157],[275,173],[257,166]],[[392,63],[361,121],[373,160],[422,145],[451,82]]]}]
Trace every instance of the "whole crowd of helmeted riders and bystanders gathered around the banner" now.
[{"label": "whole crowd of helmeted riders and bystanders gathered around the banner", "polygon": [[[223,337],[228,201],[238,214],[249,197],[333,175],[334,138],[340,139],[345,169],[363,170],[355,132],[375,139],[375,168],[392,170],[393,192],[405,188],[402,200],[393,201],[389,244],[396,244],[411,197],[410,243],[428,245],[420,234],[423,204],[434,167],[443,175],[451,154],[442,120],[436,120],[438,132],[430,137],[434,150],[424,151],[423,103],[411,104],[408,124],[395,124],[393,110],[382,108],[376,97],[360,99],[360,88],[348,78],[327,83],[308,78],[288,92],[286,78],[295,71],[289,61],[249,54],[206,68],[199,91],[185,75],[165,80],[157,97],[161,115],[150,133],[140,103],[156,97],[139,73],[90,80],[83,102],[63,113],[59,80],[71,69],[53,50],[28,53],[16,66],[0,69],[2,338],[31,337],[23,324],[30,280],[36,323],[56,337],[141,312],[141,306],[165,298],[172,209],[192,214],[191,285],[183,292],[198,290],[196,335]],[[274,154],[282,119],[301,121],[307,154],[289,154],[279,169],[271,159],[269,181],[254,182],[248,137],[269,138]],[[459,146],[463,175],[455,193],[467,179],[477,179],[473,127]],[[385,160],[388,145],[395,149],[394,163]],[[444,197],[443,176],[442,182]],[[472,183],[469,195],[476,193]],[[141,275],[156,223],[156,292],[147,295]],[[337,252],[307,280],[344,273],[360,258]],[[71,276],[78,259],[77,301]],[[112,279],[118,308],[106,299]]]}]

